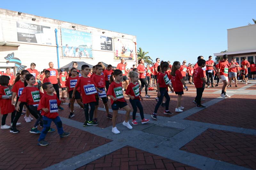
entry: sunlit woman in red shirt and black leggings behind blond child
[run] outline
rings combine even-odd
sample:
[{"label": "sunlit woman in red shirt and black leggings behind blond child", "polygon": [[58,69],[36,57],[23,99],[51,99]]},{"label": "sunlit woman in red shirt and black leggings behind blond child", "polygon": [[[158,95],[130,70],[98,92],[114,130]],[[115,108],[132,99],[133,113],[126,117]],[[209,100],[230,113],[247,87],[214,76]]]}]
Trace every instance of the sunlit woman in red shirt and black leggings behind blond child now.
[{"label": "sunlit woman in red shirt and black leggings behind blond child", "polygon": [[148,95],[148,83],[147,83],[147,80],[146,80],[146,68],[145,68],[145,66],[144,66],[144,63],[145,63],[145,61],[143,60],[143,59],[140,59],[139,61],[138,61],[138,67],[137,67],[137,69],[138,69],[138,73],[140,74],[139,75],[139,78],[140,78],[140,82],[141,82],[141,87],[140,87],[140,91],[143,89],[143,87],[145,86],[145,93],[146,93],[146,95],[145,95],[145,97],[150,97],[149,95]]}]

